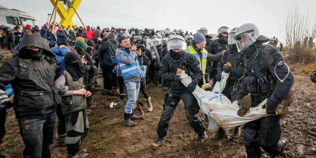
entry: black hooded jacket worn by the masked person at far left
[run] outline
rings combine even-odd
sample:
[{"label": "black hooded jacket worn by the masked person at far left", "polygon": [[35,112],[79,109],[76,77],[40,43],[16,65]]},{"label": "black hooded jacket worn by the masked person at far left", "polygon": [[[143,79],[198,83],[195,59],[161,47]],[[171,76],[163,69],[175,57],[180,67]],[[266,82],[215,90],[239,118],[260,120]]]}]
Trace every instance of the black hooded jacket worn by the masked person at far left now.
[{"label": "black hooded jacket worn by the masked person at far left", "polygon": [[[43,51],[40,60],[24,59],[25,47],[36,46]],[[17,118],[45,115],[56,111],[61,97],[55,86],[56,58],[40,34],[25,34],[17,58],[5,61],[0,68],[0,89],[11,83]]]}]

